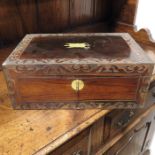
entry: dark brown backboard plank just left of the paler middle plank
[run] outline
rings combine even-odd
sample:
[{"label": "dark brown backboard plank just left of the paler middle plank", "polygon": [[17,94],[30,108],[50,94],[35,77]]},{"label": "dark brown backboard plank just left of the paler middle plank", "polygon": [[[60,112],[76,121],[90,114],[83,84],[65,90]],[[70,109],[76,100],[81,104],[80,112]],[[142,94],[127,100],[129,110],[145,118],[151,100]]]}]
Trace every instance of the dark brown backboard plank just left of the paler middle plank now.
[{"label": "dark brown backboard plank just left of the paler middle plank", "polygon": [[69,24],[69,0],[41,0],[38,3],[41,32],[60,32]]}]

